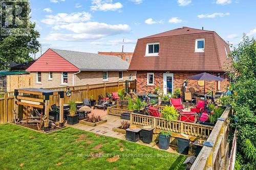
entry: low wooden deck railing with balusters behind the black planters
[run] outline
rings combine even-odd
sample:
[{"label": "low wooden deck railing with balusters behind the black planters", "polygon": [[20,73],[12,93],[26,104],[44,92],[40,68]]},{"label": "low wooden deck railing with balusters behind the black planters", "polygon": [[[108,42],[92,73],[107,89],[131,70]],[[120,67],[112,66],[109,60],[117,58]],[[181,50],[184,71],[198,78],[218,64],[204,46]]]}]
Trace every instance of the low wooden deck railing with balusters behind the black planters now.
[{"label": "low wooden deck railing with balusters behind the black planters", "polygon": [[210,135],[212,129],[214,128],[212,126],[187,123],[179,120],[167,122],[166,119],[161,117],[153,117],[136,113],[131,113],[131,125],[152,126],[156,128],[155,132],[156,130],[164,130],[175,133],[183,133],[186,135],[191,135],[205,139]]}]

